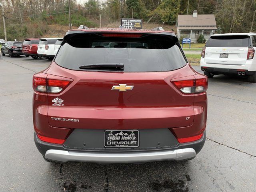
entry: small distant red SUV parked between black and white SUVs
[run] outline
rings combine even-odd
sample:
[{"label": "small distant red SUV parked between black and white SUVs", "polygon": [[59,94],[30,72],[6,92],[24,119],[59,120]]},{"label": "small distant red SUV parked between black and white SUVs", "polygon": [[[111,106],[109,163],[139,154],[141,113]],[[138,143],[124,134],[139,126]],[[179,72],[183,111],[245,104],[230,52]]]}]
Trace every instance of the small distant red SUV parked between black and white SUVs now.
[{"label": "small distant red SUV parked between black and white SUVs", "polygon": [[22,53],[26,57],[31,56],[34,59],[38,58],[37,45],[39,41],[39,39],[25,39],[22,44]]}]

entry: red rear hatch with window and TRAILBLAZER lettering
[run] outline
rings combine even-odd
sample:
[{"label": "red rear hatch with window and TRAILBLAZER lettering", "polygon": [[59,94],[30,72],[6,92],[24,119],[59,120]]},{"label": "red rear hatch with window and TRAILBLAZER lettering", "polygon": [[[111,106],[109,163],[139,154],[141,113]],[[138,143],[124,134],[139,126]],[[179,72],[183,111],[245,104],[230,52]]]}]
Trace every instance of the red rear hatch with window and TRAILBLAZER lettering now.
[{"label": "red rear hatch with window and TRAILBLAZER lettering", "polygon": [[[115,46],[92,47],[99,41]],[[131,42],[139,44],[130,48]],[[123,63],[124,69],[79,68],[103,63]],[[51,126],[130,130],[193,123],[194,95],[182,94],[170,80],[194,78],[195,73],[170,38],[106,38],[94,34],[74,37],[60,47],[47,73],[48,78],[52,74],[73,79],[60,94],[48,94]]]}]

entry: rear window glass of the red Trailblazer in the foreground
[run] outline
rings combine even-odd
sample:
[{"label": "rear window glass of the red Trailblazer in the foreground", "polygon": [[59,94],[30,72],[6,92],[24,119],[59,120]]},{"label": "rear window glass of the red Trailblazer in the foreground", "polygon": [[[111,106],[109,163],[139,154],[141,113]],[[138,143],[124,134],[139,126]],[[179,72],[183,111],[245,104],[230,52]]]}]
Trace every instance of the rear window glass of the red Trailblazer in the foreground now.
[{"label": "rear window glass of the red Trailblazer in the foreground", "polygon": [[171,71],[186,65],[180,46],[160,35],[141,38],[77,35],[60,47],[55,62],[64,68],[87,71],[79,66],[120,63],[124,64],[124,72]]}]

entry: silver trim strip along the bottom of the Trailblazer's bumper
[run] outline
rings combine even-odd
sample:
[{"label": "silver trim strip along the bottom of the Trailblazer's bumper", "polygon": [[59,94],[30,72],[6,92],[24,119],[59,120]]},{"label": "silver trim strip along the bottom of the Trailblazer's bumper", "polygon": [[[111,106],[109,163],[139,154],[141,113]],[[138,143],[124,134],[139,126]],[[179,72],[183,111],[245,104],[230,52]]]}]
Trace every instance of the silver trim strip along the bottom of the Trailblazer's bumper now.
[{"label": "silver trim strip along the bottom of the Trailblazer's bumper", "polygon": [[46,151],[45,158],[49,160],[68,162],[98,162],[98,163],[131,163],[161,160],[186,160],[196,156],[193,148],[169,150],[162,152],[140,152],[140,153],[95,153],[95,152],[71,152],[50,149]]}]

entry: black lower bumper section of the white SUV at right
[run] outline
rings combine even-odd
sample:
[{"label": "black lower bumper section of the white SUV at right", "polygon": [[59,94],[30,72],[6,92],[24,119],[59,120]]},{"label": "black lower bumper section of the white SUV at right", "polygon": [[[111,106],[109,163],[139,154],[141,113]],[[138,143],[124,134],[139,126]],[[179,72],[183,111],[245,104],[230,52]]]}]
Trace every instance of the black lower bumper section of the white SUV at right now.
[{"label": "black lower bumper section of the white SUV at right", "polygon": [[248,71],[248,70],[241,71],[239,69],[203,67],[203,66],[201,66],[201,70],[206,70],[207,72],[211,72],[213,74],[238,74],[238,72],[245,72],[246,75],[253,75],[256,72],[256,71]]}]

